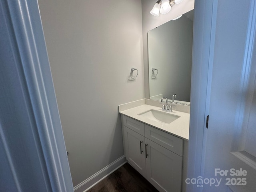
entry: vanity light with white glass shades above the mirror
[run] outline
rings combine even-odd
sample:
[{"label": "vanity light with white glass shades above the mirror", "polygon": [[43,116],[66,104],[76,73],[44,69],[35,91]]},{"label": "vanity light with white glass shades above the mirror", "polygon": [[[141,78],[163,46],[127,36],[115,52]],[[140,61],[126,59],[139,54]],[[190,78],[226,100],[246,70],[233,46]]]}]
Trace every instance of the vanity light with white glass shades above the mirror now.
[{"label": "vanity light with white glass shades above the mirror", "polygon": [[170,12],[172,6],[174,6],[175,3],[179,4],[182,1],[183,0],[158,0],[150,13],[158,17],[159,11],[161,14],[166,14]]}]

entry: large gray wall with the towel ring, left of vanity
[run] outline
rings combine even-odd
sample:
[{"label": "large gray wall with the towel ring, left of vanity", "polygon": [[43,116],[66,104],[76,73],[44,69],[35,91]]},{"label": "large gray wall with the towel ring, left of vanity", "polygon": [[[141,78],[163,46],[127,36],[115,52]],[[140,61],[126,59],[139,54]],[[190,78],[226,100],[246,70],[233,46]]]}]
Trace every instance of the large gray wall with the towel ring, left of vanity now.
[{"label": "large gray wall with the towel ring, left of vanity", "polygon": [[124,154],[118,104],[144,98],[141,1],[38,1],[76,186]]}]

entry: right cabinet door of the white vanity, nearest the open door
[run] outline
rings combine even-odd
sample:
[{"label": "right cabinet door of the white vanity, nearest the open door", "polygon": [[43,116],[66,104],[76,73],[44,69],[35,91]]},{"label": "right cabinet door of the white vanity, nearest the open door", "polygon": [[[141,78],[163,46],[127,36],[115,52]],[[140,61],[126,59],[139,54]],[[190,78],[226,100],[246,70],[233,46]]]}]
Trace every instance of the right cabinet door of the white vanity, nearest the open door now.
[{"label": "right cabinet door of the white vanity, nearest the open door", "polygon": [[180,192],[182,157],[145,138],[146,178],[160,192]]}]

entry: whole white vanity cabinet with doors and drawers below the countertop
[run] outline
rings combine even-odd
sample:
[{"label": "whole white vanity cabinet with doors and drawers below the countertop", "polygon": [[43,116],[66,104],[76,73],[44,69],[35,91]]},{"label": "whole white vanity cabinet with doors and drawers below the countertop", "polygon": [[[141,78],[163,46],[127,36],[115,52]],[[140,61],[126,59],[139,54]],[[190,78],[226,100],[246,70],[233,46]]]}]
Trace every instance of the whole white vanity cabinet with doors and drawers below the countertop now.
[{"label": "whole white vanity cabinet with doors and drawers below the countertop", "polygon": [[124,115],[122,131],[128,163],[160,192],[180,192],[183,140]]}]

